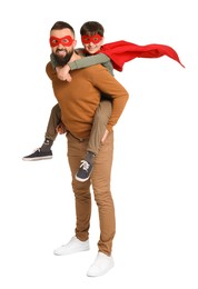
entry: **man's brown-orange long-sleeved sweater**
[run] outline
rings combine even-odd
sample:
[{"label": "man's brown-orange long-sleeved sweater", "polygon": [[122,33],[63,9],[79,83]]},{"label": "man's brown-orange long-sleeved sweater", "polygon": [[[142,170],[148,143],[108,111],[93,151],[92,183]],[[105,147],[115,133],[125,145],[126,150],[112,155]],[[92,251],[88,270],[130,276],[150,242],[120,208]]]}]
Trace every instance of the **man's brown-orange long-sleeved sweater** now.
[{"label": "man's brown-orange long-sleeved sweater", "polygon": [[68,131],[78,138],[89,138],[100,91],[112,98],[112,113],[107,129],[117,123],[129,98],[127,90],[101,64],[70,71],[71,82],[61,81],[49,62],[46,67],[55,96],[61,109],[61,119]]}]

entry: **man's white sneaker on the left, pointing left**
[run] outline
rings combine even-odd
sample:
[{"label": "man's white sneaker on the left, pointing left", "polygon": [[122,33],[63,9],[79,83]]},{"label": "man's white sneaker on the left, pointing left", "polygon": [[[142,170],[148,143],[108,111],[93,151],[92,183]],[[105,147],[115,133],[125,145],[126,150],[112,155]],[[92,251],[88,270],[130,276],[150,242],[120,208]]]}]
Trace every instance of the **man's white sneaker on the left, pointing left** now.
[{"label": "man's white sneaker on the left, pointing left", "polygon": [[87,250],[89,250],[89,240],[80,241],[79,239],[77,239],[77,237],[72,237],[68,243],[57,248],[53,253],[58,256],[63,256]]}]

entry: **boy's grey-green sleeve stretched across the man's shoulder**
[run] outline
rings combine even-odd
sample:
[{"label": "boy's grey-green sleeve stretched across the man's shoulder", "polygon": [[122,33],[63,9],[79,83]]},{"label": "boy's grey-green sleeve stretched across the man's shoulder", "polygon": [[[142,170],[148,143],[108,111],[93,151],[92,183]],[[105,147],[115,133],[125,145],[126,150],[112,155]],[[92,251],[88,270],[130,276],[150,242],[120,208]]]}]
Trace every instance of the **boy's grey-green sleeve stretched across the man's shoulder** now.
[{"label": "boy's grey-green sleeve stretched across the man's shoulder", "polygon": [[96,56],[89,56],[89,57],[83,57],[81,59],[78,59],[73,62],[69,62],[68,66],[70,67],[71,70],[80,69],[80,68],[86,68],[86,67],[91,67],[96,64],[102,64],[106,67],[111,74],[113,74],[113,67],[111,64],[110,58],[106,56],[105,53],[98,53]]}]

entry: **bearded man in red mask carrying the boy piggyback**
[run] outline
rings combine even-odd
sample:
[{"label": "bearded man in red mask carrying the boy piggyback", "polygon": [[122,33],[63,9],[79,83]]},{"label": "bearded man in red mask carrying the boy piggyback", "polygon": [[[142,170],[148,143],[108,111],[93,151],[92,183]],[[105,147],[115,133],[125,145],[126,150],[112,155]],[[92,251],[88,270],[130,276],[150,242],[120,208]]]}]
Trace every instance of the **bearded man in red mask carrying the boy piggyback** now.
[{"label": "bearded man in red mask carrying the boy piggyback", "polygon": [[[62,21],[56,22],[50,31],[51,52],[59,66],[80,59],[75,52],[77,41],[73,28]],[[61,120],[68,131],[68,161],[72,177],[72,190],[76,199],[75,237],[58,249],[55,255],[68,255],[89,249],[89,227],[91,216],[92,186],[98,206],[100,238],[98,255],[90,266],[88,276],[101,276],[113,267],[112,241],[116,233],[115,207],[110,190],[111,165],[113,158],[113,126],[120,118],[129,98],[126,89],[102,66],[92,66],[71,71],[71,82],[57,77],[51,62],[47,64],[47,74],[52,81],[55,96],[61,109]],[[91,179],[85,182],[76,180],[75,175],[85,156],[95,111],[103,92],[112,99],[112,112],[105,132],[106,139],[95,160]]]}]

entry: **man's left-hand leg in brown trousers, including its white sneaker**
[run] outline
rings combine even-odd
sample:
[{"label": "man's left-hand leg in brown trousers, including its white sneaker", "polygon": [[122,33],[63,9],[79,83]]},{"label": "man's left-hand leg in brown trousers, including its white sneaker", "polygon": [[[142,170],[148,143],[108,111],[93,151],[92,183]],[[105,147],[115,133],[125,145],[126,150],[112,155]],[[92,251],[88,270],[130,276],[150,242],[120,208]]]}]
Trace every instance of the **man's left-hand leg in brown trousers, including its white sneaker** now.
[{"label": "man's left-hand leg in brown trousers, including its white sneaker", "polygon": [[71,171],[72,190],[76,202],[76,229],[75,237],[72,237],[67,245],[56,249],[55,255],[68,255],[89,250],[89,226],[91,216],[90,180],[79,182],[75,178],[79,161],[86,152],[87,141],[80,141],[70,133],[67,134],[67,138],[68,161]]}]

